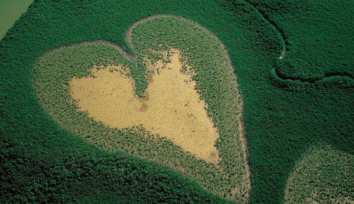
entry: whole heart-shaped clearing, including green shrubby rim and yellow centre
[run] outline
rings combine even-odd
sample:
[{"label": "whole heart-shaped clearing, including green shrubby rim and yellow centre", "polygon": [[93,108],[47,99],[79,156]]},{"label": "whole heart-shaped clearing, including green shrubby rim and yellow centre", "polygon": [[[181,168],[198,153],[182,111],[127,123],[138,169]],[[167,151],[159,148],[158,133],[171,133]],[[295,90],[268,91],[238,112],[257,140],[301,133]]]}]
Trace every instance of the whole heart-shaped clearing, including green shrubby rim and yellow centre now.
[{"label": "whole heart-shaped clearing, including green shrubby rim and yellow centre", "polygon": [[104,42],[40,57],[33,84],[43,107],[89,142],[162,162],[247,201],[242,98],[221,41],[174,16],[139,21],[127,37],[134,57]]}]

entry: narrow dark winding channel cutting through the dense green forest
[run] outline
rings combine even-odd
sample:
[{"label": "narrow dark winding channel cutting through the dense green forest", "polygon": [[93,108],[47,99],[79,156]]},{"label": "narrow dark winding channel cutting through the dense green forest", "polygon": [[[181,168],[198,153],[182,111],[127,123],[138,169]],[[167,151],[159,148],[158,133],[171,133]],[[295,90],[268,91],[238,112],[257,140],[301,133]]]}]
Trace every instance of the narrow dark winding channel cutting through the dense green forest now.
[{"label": "narrow dark winding channel cutting through the dense green forest", "polygon": [[[280,36],[280,40],[281,40],[281,44],[282,44],[282,53],[281,53],[281,55],[279,56],[279,59],[280,60],[284,60],[285,59],[285,53],[286,53],[286,48],[287,48],[287,46],[288,46],[288,42],[287,42],[287,40],[286,40],[286,38],[284,37],[285,35],[284,35],[284,31],[282,30],[282,29],[280,29],[277,25],[276,25],[276,23],[274,22],[274,21],[272,21],[271,19],[269,19],[268,18],[268,16],[264,13],[264,12],[262,12],[262,11],[260,11],[260,10],[258,10],[257,9],[257,6],[256,6],[256,4],[254,4],[254,3],[252,3],[252,2],[250,2],[249,0],[243,0],[246,4],[248,4],[248,5],[250,5],[251,7],[253,7],[259,14],[261,14],[261,16],[262,16],[262,18],[263,18],[263,20],[265,20],[266,22],[268,22],[270,25],[271,25],[271,27],[273,28],[273,29],[275,29],[275,31],[276,31],[276,33]],[[307,82],[307,83],[316,83],[316,82],[323,82],[324,80],[331,80],[331,79],[334,79],[334,78],[338,78],[338,77],[341,77],[341,78],[349,78],[349,79],[351,79],[351,80],[354,80],[354,76],[352,75],[352,74],[349,74],[349,73],[324,73],[324,76],[323,76],[323,78],[322,79],[309,79],[309,80],[307,80],[307,79],[302,79],[302,78],[300,78],[300,77],[286,77],[286,76],[283,76],[283,75],[280,75],[278,72],[277,72],[277,70],[276,70],[276,68],[275,67],[272,67],[273,68],[273,70],[274,70],[274,73],[276,74],[276,76],[277,77],[279,77],[280,79],[282,79],[282,80],[290,80],[290,81],[300,81],[300,82],[303,82],[303,83],[305,83],[305,82]]]}]

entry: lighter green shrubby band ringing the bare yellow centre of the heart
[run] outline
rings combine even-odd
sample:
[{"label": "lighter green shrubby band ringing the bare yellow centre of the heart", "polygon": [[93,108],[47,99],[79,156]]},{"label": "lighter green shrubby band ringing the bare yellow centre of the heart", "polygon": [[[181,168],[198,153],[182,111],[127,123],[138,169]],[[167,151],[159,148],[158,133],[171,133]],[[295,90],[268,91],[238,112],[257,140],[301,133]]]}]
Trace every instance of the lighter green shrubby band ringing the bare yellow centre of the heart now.
[{"label": "lighter green shrubby band ringing the bare yellow centre of the heart", "polygon": [[193,22],[170,16],[138,24],[133,29],[132,39],[138,59],[147,56],[154,61],[158,60],[160,57],[151,49],[161,51],[177,48],[183,51],[182,60],[196,73],[196,88],[206,100],[208,113],[220,134],[216,145],[222,159],[217,166],[197,160],[170,141],[150,135],[143,127],[131,130],[110,129],[102,122],[89,118],[87,113],[77,111],[78,107],[72,103],[67,85],[72,77],[89,75],[91,70],[88,68],[94,65],[127,67],[135,79],[136,92],[144,90],[141,87],[145,87],[146,80],[139,79],[146,74],[134,73],[138,67],[146,65],[137,66],[109,44],[85,43],[61,48],[41,57],[34,66],[34,84],[44,107],[75,135],[110,150],[122,149],[146,159],[160,161],[184,171],[216,194],[245,201],[249,178],[238,134],[236,117],[240,110],[235,103],[238,92],[232,67],[228,66],[230,61],[221,42]]}]

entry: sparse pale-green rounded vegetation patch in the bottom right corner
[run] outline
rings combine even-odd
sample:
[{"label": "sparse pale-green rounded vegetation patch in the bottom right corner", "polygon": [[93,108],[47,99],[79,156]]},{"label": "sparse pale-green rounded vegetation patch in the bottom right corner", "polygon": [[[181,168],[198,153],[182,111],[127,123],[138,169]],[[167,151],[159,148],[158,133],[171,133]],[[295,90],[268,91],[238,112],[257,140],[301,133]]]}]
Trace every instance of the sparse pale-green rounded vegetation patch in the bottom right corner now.
[{"label": "sparse pale-green rounded vegetation patch in the bottom right corner", "polygon": [[354,157],[331,146],[311,148],[296,164],[285,203],[354,203]]}]

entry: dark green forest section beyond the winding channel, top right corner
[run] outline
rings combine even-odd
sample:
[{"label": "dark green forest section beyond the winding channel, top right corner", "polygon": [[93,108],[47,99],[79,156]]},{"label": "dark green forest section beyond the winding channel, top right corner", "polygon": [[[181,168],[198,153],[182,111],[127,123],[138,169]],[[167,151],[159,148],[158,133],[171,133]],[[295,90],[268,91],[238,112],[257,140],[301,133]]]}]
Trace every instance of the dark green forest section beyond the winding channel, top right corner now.
[{"label": "dark green forest section beyond the winding channel, top right corner", "polygon": [[354,79],[352,1],[246,1],[284,37],[286,60],[277,65],[282,78],[309,82],[332,76]]}]

